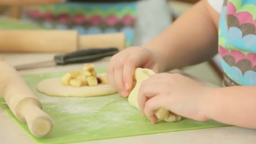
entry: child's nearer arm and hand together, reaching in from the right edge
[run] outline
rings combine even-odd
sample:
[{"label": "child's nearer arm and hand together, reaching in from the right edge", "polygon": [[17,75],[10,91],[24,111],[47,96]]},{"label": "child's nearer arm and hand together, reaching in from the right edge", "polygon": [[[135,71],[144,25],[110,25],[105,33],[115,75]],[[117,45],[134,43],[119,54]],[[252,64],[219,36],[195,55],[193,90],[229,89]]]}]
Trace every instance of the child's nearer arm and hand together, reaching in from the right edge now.
[{"label": "child's nearer arm and hand together, reaching in from the right edge", "polygon": [[157,123],[155,111],[165,108],[183,117],[256,129],[256,86],[210,88],[179,74],[152,75],[141,83],[138,104]]}]

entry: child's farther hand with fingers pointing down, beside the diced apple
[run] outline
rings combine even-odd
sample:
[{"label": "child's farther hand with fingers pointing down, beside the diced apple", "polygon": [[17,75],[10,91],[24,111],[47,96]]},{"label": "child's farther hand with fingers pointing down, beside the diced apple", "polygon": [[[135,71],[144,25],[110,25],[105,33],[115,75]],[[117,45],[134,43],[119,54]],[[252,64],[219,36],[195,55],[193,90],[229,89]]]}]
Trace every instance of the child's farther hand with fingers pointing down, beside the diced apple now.
[{"label": "child's farther hand with fingers pointing down, beside the diced apple", "polygon": [[141,47],[127,48],[114,56],[107,69],[110,85],[127,97],[133,84],[133,75],[137,67],[160,70],[160,56],[155,51]]}]

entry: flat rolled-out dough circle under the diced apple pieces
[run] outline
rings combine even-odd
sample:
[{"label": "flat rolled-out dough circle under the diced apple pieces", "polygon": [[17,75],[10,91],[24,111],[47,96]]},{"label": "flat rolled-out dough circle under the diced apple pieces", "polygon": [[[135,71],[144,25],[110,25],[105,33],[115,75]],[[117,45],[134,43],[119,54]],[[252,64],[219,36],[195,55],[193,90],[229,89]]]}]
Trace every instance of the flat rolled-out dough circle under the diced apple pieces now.
[{"label": "flat rolled-out dough circle under the diced apple pieces", "polygon": [[49,96],[61,97],[91,97],[117,93],[117,91],[110,85],[99,84],[93,87],[83,86],[80,88],[71,87],[70,85],[62,85],[60,78],[42,80],[37,85],[37,91]]}]

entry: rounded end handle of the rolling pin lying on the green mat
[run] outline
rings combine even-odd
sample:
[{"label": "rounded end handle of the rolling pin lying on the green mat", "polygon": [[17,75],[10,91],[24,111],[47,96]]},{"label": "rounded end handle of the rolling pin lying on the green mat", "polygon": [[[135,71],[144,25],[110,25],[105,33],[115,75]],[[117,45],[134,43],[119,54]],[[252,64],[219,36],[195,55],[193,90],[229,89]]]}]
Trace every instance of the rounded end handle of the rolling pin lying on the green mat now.
[{"label": "rounded end handle of the rolling pin lying on the green mat", "polygon": [[42,110],[40,101],[32,97],[19,101],[16,116],[21,122],[27,123],[29,131],[37,137],[47,135],[53,128],[51,117]]}]

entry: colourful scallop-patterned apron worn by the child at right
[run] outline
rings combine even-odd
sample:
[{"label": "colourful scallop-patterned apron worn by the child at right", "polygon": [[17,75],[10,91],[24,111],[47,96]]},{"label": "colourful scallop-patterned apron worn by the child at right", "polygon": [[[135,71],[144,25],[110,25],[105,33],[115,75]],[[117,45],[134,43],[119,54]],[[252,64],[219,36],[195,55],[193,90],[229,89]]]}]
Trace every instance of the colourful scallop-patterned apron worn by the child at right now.
[{"label": "colourful scallop-patterned apron worn by the child at right", "polygon": [[256,85],[256,0],[225,0],[219,22],[219,53],[231,81]]}]

